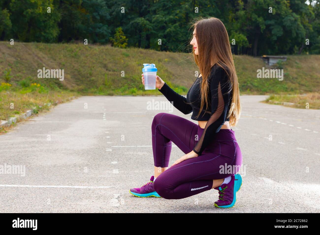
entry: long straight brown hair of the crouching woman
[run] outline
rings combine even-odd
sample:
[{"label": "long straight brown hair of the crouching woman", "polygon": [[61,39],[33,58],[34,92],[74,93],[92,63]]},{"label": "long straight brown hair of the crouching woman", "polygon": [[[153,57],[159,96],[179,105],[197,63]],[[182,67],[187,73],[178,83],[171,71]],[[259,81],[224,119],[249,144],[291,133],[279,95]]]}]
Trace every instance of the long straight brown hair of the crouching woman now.
[{"label": "long straight brown hair of the crouching woman", "polygon": [[[230,118],[230,126],[236,126],[241,114],[240,90],[227,29],[221,20],[214,17],[207,19],[200,18],[200,20],[197,20],[192,24],[191,28],[196,29],[196,40],[199,52],[199,55],[196,55],[193,50],[193,57],[196,65],[199,67],[200,73],[202,74],[202,84],[200,89],[201,106],[197,117],[204,108],[204,103],[206,103],[206,107],[208,107],[208,100],[206,97],[208,96],[209,85],[207,80],[210,75],[212,65],[217,64],[226,71],[230,79],[232,99],[226,119],[228,117]],[[229,92],[231,92],[231,90],[229,90]]]}]

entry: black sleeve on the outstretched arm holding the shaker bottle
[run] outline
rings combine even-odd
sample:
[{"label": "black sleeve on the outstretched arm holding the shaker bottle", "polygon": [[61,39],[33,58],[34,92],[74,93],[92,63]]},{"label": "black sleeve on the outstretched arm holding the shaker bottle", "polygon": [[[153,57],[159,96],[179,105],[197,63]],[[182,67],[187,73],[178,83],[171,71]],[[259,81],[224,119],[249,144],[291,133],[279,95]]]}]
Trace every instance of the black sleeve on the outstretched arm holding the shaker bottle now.
[{"label": "black sleeve on the outstretched arm holding the shaker bottle", "polygon": [[192,112],[192,106],[187,104],[187,98],[179,95],[177,92],[172,90],[167,83],[164,82],[164,85],[161,89],[158,89],[170,102],[183,114],[190,114]]}]

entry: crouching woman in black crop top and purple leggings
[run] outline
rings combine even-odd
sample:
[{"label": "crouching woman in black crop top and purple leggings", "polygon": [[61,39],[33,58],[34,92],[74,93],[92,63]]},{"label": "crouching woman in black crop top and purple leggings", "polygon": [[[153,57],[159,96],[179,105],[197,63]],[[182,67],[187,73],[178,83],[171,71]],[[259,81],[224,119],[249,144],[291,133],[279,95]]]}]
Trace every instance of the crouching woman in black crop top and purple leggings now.
[{"label": "crouching woman in black crop top and purple leggings", "polygon": [[[230,128],[236,125],[241,113],[236,70],[228,33],[219,19],[202,19],[192,27],[190,44],[201,73],[187,98],[173,91],[159,76],[156,87],[183,114],[192,112],[191,119],[198,124],[168,113],[154,117],[155,173],[147,184],[130,189],[130,193],[138,197],[182,199],[216,189],[219,200],[214,205],[229,208],[234,206],[236,192],[242,185],[242,177],[236,174],[242,154]],[[185,155],[168,168],[172,142]]]}]

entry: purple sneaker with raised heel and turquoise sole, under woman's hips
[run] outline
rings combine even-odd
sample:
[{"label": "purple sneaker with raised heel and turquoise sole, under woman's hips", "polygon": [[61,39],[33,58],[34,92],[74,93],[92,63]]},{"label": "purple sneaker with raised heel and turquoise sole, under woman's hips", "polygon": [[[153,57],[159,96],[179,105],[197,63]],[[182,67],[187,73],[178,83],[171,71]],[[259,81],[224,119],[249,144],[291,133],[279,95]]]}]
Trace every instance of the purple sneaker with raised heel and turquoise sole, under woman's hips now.
[{"label": "purple sneaker with raised heel and turquoise sole, under woman's hips", "polygon": [[239,174],[231,176],[229,184],[222,184],[214,189],[219,190],[219,200],[214,202],[215,207],[230,208],[237,200],[237,192],[242,185],[242,177]]}]

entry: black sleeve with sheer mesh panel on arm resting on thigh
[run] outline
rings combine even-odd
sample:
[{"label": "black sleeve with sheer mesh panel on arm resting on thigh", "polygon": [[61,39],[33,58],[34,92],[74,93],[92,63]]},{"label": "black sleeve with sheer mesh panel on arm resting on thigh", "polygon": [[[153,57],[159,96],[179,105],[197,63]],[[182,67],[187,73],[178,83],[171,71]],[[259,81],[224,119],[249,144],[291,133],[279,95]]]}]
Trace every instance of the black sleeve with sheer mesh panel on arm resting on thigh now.
[{"label": "black sleeve with sheer mesh panel on arm resting on thigh", "polygon": [[[229,105],[229,93],[227,84],[225,83],[224,70],[217,69],[211,75],[211,116],[205,125],[202,136],[197,142],[193,151],[198,155],[201,155],[205,147],[212,141],[212,137],[215,133],[219,132],[221,126],[225,122],[226,113]],[[221,88],[222,86],[222,88]]]}]

